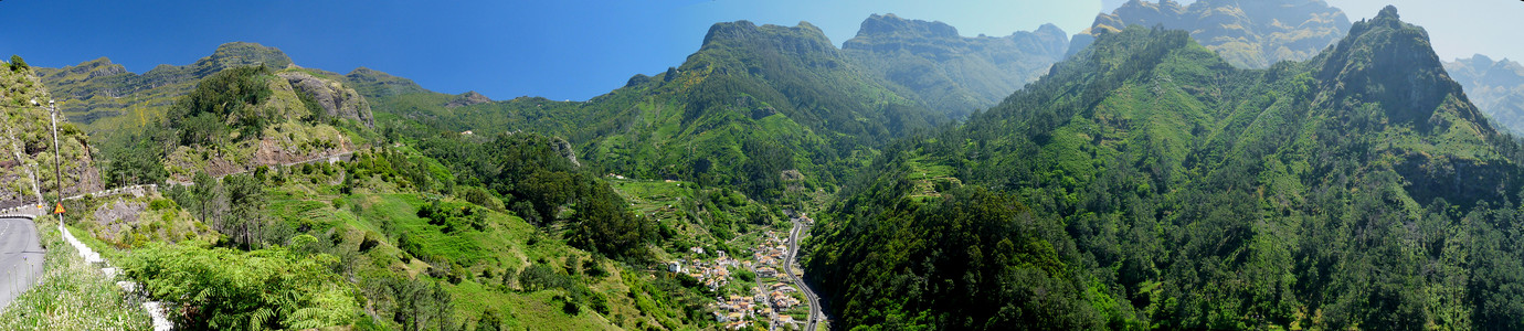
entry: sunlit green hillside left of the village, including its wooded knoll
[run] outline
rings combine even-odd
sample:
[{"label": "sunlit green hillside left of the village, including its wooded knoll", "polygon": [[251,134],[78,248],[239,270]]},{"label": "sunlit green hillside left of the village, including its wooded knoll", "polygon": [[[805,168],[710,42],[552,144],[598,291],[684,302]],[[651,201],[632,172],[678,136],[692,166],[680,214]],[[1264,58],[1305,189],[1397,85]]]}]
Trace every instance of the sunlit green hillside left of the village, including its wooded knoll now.
[{"label": "sunlit green hillside left of the village, including its wooded knoll", "polygon": [[[267,87],[279,75],[258,66],[215,73],[175,102],[180,121],[148,125],[158,134],[136,146],[216,153],[268,125],[323,128],[320,107],[273,107],[280,92]],[[197,168],[189,183],[157,194],[70,200],[69,210],[85,212],[69,226],[149,299],[169,302],[178,328],[684,329],[713,323],[713,290],[648,265],[725,247],[710,230],[771,224],[744,195],[715,204],[696,189],[619,191],[556,137],[355,130],[343,134],[375,140],[343,162],[226,175]],[[163,180],[174,157],[157,156],[113,171],[158,166]],[[663,195],[674,191],[703,198]],[[668,207],[637,209],[648,200]],[[719,223],[732,212],[760,221]]]}]

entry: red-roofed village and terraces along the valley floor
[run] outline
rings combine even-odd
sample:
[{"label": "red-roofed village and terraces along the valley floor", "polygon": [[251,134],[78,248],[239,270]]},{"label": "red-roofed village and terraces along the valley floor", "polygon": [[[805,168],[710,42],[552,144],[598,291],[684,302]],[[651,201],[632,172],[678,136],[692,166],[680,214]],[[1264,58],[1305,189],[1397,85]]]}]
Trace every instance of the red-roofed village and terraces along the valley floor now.
[{"label": "red-roofed village and terraces along the valley floor", "polygon": [[[706,314],[724,329],[809,329],[811,293],[800,288],[797,256],[791,256],[799,239],[814,220],[792,210],[759,209],[767,215],[751,218],[742,230],[727,236],[707,233],[706,223],[721,210],[696,212],[696,197],[703,192],[692,183],[674,180],[631,180],[608,174],[637,217],[652,218],[671,229],[683,246],[666,247],[660,272],[687,278],[712,302]],[[724,194],[721,194],[724,195]],[[710,200],[715,200],[710,197]],[[744,201],[744,198],[736,198]],[[771,215],[770,215],[771,214]],[[776,217],[774,217],[776,215]],[[704,235],[700,235],[704,233]],[[718,239],[718,241],[716,241]],[[792,270],[796,275],[788,275]]]}]

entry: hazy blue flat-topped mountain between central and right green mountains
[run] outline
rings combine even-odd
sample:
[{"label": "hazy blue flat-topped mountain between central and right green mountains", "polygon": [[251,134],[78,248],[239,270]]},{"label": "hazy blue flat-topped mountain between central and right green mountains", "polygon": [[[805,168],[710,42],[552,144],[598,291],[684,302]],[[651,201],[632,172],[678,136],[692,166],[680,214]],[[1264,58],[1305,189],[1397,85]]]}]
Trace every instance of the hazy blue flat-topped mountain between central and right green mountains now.
[{"label": "hazy blue flat-topped mountain between central and right green mountains", "polygon": [[966,38],[940,21],[872,15],[841,52],[896,93],[927,108],[968,116],[1047,73],[1068,50],[1053,24],[1009,37]]}]

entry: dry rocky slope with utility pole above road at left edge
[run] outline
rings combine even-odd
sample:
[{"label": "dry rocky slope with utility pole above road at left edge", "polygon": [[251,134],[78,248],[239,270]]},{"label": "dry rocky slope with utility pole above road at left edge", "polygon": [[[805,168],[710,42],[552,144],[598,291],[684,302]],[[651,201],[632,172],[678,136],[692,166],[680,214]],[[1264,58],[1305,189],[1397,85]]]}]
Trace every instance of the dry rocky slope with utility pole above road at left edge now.
[{"label": "dry rocky slope with utility pole above road at left edge", "polygon": [[[58,195],[53,131],[49,110],[53,96],[20,56],[0,67],[0,207],[37,203]],[[101,174],[91,159],[90,137],[66,117],[58,117],[56,154],[62,156],[62,192],[75,195],[101,189]]]}]

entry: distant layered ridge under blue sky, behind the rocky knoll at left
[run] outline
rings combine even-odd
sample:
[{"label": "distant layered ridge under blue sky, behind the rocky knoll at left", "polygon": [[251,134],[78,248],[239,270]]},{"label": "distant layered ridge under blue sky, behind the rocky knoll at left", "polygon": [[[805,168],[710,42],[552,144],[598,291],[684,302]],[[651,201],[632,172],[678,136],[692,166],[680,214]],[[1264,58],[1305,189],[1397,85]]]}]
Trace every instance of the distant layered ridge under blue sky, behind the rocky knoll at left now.
[{"label": "distant layered ridge under blue sky, behind the rocky knoll at left", "polygon": [[[197,59],[189,66],[160,64],[142,75],[131,73],[120,64],[113,64],[108,58],[85,61],[64,69],[37,69],[43,84],[58,93],[59,108],[82,128],[102,139],[114,139],[119,133],[131,133],[134,128],[152,124],[165,116],[165,111],[177,98],[195,88],[195,84],[213,73],[248,66],[265,66],[274,70],[291,67],[291,58],[274,47],[255,43],[227,43],[218,46],[212,55]],[[299,84],[306,93],[343,98],[341,87],[337,93],[315,88],[334,82],[332,78],[305,79]],[[354,93],[358,96],[358,93]],[[328,98],[334,99],[334,98]],[[326,102],[338,104],[338,102]],[[337,110],[340,116],[369,124],[369,113],[361,110]]]}]

